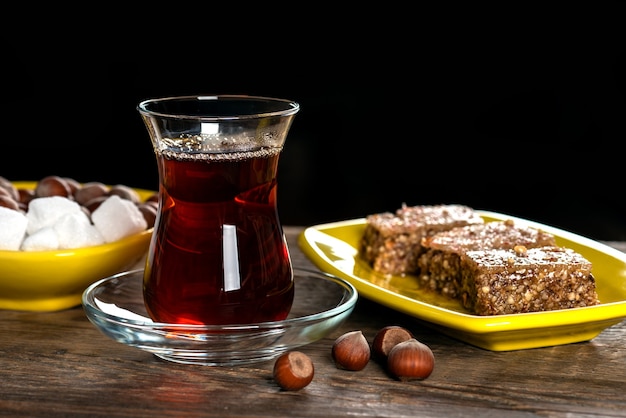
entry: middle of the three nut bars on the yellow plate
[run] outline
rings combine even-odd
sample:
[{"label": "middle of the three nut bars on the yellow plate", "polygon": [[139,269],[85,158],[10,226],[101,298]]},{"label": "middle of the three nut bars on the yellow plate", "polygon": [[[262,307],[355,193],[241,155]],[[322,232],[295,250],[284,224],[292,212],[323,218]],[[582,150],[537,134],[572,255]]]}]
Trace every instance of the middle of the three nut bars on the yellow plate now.
[{"label": "middle of the three nut bars on the yellow plate", "polygon": [[456,298],[461,287],[461,254],[471,250],[556,246],[554,235],[513,220],[452,228],[424,237],[418,259],[420,286]]}]

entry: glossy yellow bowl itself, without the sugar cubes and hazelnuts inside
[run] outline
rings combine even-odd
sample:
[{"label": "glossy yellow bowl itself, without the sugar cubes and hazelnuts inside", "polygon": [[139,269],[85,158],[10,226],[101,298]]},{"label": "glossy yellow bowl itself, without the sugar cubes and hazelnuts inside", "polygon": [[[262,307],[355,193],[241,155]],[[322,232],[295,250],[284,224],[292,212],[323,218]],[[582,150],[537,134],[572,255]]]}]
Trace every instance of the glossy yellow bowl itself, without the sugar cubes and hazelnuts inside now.
[{"label": "glossy yellow bowl itself, without the sugar cubes and hazelnuts inside", "polygon": [[[36,182],[14,182],[34,189]],[[154,191],[135,189],[142,200]],[[93,282],[129,270],[145,257],[152,228],[108,244],[67,250],[0,250],[0,309],[58,311],[81,304]]]}]

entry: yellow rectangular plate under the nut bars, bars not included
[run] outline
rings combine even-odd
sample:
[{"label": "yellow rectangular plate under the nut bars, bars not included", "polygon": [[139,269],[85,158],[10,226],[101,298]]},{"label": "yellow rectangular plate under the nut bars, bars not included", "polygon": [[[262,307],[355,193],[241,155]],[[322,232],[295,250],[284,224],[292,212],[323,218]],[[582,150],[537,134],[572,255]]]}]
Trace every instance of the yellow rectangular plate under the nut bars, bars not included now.
[{"label": "yellow rectangular plate under the nut bars, bars not included", "polygon": [[365,219],[306,228],[298,237],[304,253],[323,271],[352,283],[365,298],[430,323],[446,335],[492,351],[510,351],[589,341],[626,318],[626,254],[561,229],[494,212],[485,221],[512,219],[555,235],[593,264],[601,304],[585,308],[478,316],[459,302],[420,289],[415,277],[374,272],[358,255]]}]

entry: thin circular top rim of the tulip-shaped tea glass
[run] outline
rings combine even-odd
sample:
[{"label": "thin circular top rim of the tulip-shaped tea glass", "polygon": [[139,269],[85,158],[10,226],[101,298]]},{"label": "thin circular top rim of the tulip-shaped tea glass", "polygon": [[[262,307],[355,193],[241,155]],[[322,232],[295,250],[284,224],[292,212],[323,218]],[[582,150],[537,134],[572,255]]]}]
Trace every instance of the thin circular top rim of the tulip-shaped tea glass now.
[{"label": "thin circular top rim of the tulip-shaped tea glass", "polygon": [[[228,102],[236,102],[240,101],[242,103],[259,103],[259,104],[273,104],[279,105],[274,109],[267,111],[254,111],[249,113],[237,113],[231,112],[229,114],[224,115],[202,115],[202,114],[190,114],[183,112],[167,112],[163,110],[154,110],[150,109],[152,105],[158,105],[162,103],[168,102],[219,102],[219,101],[228,101]],[[250,95],[236,95],[236,94],[208,94],[208,95],[186,95],[186,96],[167,96],[167,97],[157,97],[142,100],[137,105],[137,110],[139,113],[145,116],[150,117],[159,117],[159,118],[167,118],[167,119],[188,119],[188,120],[201,120],[206,122],[219,122],[225,120],[242,120],[242,119],[259,119],[259,118],[267,118],[267,117],[285,117],[296,114],[300,110],[300,105],[288,99],[279,99],[274,97],[266,97],[266,96],[250,96]]]}]

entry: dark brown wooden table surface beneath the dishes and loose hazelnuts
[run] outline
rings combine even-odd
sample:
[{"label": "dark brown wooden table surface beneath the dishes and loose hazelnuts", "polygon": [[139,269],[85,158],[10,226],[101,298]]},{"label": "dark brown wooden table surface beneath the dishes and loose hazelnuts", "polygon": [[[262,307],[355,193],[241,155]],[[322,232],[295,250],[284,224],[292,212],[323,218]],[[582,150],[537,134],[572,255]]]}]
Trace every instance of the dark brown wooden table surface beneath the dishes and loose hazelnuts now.
[{"label": "dark brown wooden table surface beneath the dishes and loose hazelnuts", "polygon": [[[314,268],[297,246],[300,231],[286,228],[294,265]],[[626,242],[609,244],[626,251]],[[334,366],[340,334],[360,329],[371,341],[391,324],[431,347],[428,379],[400,382],[374,361],[359,372]],[[0,311],[0,338],[2,416],[626,416],[626,321],[590,342],[491,352],[361,298],[336,332],[301,348],[316,373],[298,392],[279,389],[273,361],[229,368],[159,360],[101,334],[81,307]]]}]

